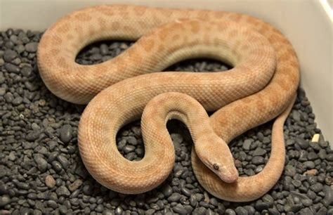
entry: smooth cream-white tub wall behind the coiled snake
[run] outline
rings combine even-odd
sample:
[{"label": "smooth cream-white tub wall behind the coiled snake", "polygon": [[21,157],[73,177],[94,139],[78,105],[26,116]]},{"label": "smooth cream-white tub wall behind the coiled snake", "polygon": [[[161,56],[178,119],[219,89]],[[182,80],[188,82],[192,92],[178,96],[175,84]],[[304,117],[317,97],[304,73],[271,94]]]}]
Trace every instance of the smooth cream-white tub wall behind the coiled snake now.
[{"label": "smooth cream-white tub wall behind the coiled snake", "polygon": [[[325,1],[325,0],[324,0]],[[332,20],[316,0],[126,0],[36,1],[0,0],[0,30],[8,27],[45,30],[58,18],[84,6],[140,4],[203,8],[254,15],[277,27],[292,42],[301,65],[301,86],[311,101],[325,138],[333,141]],[[332,4],[332,0],[328,1]],[[332,12],[332,10],[331,10]]]}]

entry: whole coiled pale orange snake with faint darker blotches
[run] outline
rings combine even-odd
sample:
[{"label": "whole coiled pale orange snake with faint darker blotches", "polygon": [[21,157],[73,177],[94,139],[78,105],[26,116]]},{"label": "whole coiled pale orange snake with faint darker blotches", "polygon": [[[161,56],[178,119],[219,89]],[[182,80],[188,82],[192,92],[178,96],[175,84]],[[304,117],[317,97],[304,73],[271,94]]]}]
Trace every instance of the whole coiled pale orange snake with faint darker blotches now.
[{"label": "whole coiled pale orange snake with faint darker blotches", "polygon": [[[136,42],[97,65],[75,62],[82,48],[103,40]],[[188,58],[213,58],[233,68],[160,72]],[[222,200],[256,200],[282,174],[283,124],[299,85],[299,62],[288,39],[263,20],[226,11],[91,6],[44,32],[37,65],[55,96],[87,104],[79,152],[89,174],[106,188],[138,194],[165,181],[175,162],[169,119],[188,126],[195,176]],[[268,163],[255,176],[239,176],[228,143],[275,117]],[[131,162],[117,149],[117,132],[140,118],[145,155]]]}]

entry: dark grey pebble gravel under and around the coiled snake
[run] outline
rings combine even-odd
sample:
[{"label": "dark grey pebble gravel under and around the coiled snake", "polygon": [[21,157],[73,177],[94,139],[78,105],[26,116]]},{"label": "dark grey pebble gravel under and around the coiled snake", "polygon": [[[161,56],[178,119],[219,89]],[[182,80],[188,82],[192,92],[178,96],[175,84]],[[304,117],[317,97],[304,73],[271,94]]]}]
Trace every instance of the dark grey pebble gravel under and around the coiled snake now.
[{"label": "dark grey pebble gravel under and around the coiled snake", "polygon": [[[315,124],[306,93],[299,89],[285,124],[287,159],[278,183],[253,202],[218,200],[197,182],[190,166],[192,141],[177,121],[167,127],[176,163],[162,185],[141,195],[123,195],[97,183],[77,147],[84,105],[55,97],[41,81],[36,51],[41,32],[0,32],[0,214],[333,214],[333,151]],[[77,63],[114,58],[131,42],[102,41],[84,48]],[[166,70],[217,71],[215,60],[185,60]],[[240,176],[259,173],[270,155],[272,122],[231,143]],[[320,133],[318,143],[311,138]],[[117,135],[119,152],[142,159],[139,122]]]}]

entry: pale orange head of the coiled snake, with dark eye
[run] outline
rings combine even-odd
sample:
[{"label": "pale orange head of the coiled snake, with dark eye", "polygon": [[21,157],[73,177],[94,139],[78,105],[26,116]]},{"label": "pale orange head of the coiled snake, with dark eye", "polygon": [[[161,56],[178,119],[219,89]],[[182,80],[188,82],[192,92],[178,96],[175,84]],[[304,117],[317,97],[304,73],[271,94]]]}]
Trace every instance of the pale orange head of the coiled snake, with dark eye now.
[{"label": "pale orange head of the coiled snake, with dark eye", "polygon": [[197,152],[202,162],[222,181],[226,183],[237,181],[238,171],[227,143],[224,141],[200,143],[200,145],[195,145],[195,152]]}]

